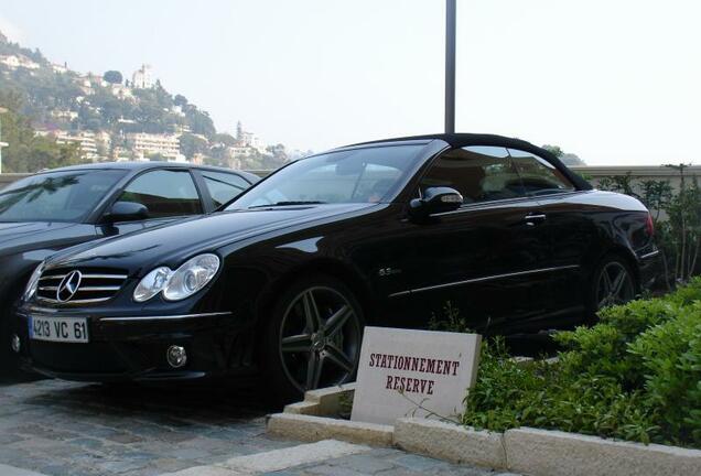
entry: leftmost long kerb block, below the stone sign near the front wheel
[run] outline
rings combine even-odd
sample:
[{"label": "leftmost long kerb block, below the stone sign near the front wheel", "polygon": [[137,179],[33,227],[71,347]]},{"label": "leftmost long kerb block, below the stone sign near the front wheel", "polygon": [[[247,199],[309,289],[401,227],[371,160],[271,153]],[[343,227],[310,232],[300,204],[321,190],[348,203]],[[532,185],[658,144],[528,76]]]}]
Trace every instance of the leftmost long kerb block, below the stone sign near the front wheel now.
[{"label": "leftmost long kerb block, below the stone sign near the front wheel", "polygon": [[294,413],[277,413],[268,419],[268,433],[292,440],[317,442],[341,440],[349,443],[391,446],[395,429],[376,423],[352,422]]}]

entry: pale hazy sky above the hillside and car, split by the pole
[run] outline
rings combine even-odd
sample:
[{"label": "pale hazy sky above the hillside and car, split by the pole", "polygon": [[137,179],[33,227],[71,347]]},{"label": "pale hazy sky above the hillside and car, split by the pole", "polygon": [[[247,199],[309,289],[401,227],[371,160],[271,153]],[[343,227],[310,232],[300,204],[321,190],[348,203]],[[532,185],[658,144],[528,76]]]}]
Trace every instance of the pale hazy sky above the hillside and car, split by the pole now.
[{"label": "pale hazy sky above the hillside and car, split by the pole", "polygon": [[[268,142],[440,132],[443,0],[3,0],[0,30],[82,72],[152,64]],[[701,163],[701,2],[457,0],[464,132],[589,164]]]}]

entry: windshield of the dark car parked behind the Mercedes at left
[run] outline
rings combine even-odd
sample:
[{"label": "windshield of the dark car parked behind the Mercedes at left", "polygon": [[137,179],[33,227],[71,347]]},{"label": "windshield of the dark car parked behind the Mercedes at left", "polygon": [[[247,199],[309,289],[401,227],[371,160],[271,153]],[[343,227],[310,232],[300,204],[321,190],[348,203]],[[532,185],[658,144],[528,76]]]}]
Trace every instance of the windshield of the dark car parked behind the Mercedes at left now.
[{"label": "windshield of the dark car parked behind the Mercedes at left", "polygon": [[0,191],[0,221],[83,221],[126,173],[84,170],[23,178]]}]

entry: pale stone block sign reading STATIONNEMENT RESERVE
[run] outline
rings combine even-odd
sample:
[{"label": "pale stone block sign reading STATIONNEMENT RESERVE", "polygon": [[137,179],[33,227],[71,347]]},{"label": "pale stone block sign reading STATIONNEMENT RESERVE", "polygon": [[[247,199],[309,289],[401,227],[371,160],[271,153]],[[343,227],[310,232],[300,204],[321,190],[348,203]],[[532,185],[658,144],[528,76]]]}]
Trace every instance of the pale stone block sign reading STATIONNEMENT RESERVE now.
[{"label": "pale stone block sign reading STATIONNEMENT RESERVE", "polygon": [[481,336],[366,327],[350,419],[454,419],[475,382]]}]

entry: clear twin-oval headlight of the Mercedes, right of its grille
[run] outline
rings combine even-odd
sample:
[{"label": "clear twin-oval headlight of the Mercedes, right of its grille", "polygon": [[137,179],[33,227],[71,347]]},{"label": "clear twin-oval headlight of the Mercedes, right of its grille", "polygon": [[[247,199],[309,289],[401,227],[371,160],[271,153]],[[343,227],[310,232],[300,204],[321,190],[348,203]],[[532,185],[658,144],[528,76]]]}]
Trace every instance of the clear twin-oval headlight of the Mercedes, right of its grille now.
[{"label": "clear twin-oval headlight of the Mercedes, right of its grille", "polygon": [[216,255],[199,255],[172,271],[160,267],[147,274],[133,291],[136,302],[145,302],[162,292],[168,301],[181,301],[203,289],[219,270]]}]

